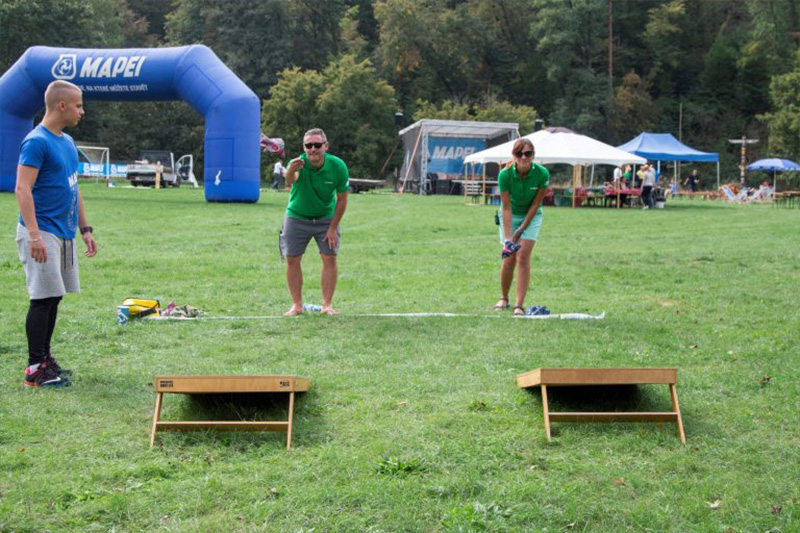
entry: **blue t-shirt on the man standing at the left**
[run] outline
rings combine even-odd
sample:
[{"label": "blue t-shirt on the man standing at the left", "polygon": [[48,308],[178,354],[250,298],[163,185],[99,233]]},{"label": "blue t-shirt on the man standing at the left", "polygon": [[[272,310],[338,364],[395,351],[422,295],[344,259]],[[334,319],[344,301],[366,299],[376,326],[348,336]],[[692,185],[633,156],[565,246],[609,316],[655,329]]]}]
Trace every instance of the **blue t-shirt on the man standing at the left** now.
[{"label": "blue t-shirt on the man standing at the left", "polygon": [[[19,164],[39,169],[33,205],[39,229],[74,239],[78,225],[78,149],[66,133],[55,135],[39,124],[22,141]],[[19,222],[25,222],[22,216]]]}]

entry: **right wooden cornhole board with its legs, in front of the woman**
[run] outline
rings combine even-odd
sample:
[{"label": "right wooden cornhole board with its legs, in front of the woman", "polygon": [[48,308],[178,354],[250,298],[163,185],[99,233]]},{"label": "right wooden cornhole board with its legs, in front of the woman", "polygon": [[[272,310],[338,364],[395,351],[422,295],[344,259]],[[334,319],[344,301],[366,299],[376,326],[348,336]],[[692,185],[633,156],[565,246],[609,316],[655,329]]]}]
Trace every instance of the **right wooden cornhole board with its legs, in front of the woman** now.
[{"label": "right wooden cornhole board with its legs, in front of the woman", "polygon": [[[520,388],[541,387],[544,409],[544,430],[551,441],[551,422],[675,422],[681,442],[686,442],[683,419],[678,405],[677,368],[537,368],[517,376]],[[553,413],[547,404],[548,387],[576,387],[597,385],[669,385],[672,411],[667,412],[585,412]]]}]

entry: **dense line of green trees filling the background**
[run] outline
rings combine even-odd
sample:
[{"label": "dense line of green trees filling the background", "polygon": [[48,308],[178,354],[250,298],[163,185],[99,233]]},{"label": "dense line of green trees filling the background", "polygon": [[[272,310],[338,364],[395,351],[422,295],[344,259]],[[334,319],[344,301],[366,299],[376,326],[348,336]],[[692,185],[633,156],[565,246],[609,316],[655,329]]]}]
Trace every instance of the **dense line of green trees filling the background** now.
[{"label": "dense line of green trees filling the background", "polygon": [[[319,126],[354,176],[379,178],[395,115],[565,126],[610,144],[669,132],[719,152],[800,157],[796,0],[4,0],[0,72],[34,45],[209,46],[263,102],[287,155]],[[182,102],[89,102],[75,132],[111,147],[193,153]],[[395,157],[399,157],[395,155]],[[264,158],[265,169],[272,161]],[[750,158],[751,159],[751,158]]]}]

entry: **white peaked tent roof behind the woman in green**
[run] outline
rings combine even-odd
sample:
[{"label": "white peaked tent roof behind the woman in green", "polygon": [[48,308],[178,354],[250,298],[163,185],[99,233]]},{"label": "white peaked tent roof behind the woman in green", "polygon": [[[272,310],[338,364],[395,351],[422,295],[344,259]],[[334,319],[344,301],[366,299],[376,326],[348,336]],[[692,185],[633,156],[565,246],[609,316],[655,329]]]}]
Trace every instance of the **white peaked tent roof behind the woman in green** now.
[{"label": "white peaked tent roof behind the woman in green", "polygon": [[[647,160],[623,152],[611,145],[577,133],[540,130],[523,137],[530,139],[536,151],[534,162],[540,165],[566,163],[568,165],[641,165]],[[470,154],[464,164],[506,163],[511,161],[515,141]]]}]

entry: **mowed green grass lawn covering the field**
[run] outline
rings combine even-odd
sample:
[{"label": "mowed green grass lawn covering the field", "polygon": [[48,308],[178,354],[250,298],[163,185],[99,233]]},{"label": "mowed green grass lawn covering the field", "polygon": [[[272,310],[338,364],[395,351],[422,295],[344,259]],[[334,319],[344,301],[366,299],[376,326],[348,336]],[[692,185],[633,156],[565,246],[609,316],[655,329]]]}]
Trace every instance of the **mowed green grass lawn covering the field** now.
[{"label": "mowed green grass lawn covering the field", "polygon": [[[547,209],[526,303],[606,318],[534,321],[489,311],[492,208],[352,195],[340,316],[121,327],[126,297],[285,311],[287,196],[82,191],[99,253],[60,307],[53,353],[76,377],[55,391],[22,386],[28,302],[16,202],[0,195],[0,531],[800,530],[798,209]],[[313,246],[305,299],[320,303]],[[480,316],[348,316],[423,311]],[[548,443],[540,395],[515,381],[543,366],[677,366],[687,444],[669,424],[555,424]],[[283,433],[164,432],[148,449],[162,373],[311,378],[294,448]],[[594,397],[555,390],[552,407]],[[600,399],[669,409],[666,386]],[[279,400],[169,395],[163,414],[269,420]]]}]

